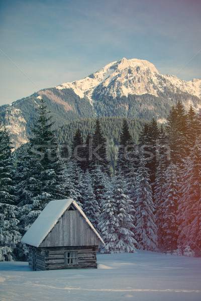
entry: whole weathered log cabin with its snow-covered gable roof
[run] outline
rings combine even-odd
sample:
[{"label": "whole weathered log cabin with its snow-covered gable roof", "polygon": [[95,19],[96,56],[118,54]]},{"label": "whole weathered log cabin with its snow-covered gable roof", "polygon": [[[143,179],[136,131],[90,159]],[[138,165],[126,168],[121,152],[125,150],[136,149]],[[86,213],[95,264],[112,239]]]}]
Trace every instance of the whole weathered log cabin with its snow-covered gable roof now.
[{"label": "whole weathered log cabin with its snow-covered gable roof", "polygon": [[33,270],[97,268],[98,245],[104,241],[72,199],[51,201],[28,229]]}]

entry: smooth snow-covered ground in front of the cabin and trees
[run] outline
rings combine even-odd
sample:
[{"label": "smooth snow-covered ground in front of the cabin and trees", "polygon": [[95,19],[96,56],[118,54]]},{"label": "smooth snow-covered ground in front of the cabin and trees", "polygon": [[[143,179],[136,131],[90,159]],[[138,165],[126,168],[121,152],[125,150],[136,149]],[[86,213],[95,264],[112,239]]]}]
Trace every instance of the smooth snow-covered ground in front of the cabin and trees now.
[{"label": "smooth snow-covered ground in front of the cabin and trees", "polygon": [[0,262],[0,300],[201,300],[201,258],[138,250],[97,260],[98,269],[35,272],[27,262]]}]

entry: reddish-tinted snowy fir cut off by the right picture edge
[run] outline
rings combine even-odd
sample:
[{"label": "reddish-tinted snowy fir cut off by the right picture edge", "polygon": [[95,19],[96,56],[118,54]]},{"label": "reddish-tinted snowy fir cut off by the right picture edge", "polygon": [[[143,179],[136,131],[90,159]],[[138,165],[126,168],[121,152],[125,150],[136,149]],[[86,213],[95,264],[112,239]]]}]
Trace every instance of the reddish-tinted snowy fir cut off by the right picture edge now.
[{"label": "reddish-tinted snowy fir cut off by the right picture edge", "polygon": [[201,136],[198,136],[182,174],[178,206],[178,241],[201,254]]}]

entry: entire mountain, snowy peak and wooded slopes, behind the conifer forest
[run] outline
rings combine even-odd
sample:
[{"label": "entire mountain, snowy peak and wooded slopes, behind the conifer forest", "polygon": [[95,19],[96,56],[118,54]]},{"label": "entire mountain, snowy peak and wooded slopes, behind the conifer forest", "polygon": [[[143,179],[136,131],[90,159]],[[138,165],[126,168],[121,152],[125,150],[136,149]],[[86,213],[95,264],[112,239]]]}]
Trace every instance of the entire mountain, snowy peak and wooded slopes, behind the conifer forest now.
[{"label": "entire mountain, snowy peak and wooded slopes, behind the conifer forest", "polygon": [[84,79],[43,89],[0,107],[0,122],[9,128],[15,148],[30,135],[40,98],[46,100],[55,127],[95,116],[127,116],[162,122],[180,100],[185,109],[201,107],[201,79],[161,75],[145,60],[123,58]]}]

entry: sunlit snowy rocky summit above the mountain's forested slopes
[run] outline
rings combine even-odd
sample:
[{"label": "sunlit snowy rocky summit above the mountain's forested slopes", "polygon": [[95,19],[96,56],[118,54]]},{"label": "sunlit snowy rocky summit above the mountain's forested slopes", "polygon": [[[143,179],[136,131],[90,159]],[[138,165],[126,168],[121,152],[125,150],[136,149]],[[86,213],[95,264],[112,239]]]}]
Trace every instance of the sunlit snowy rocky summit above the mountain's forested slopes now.
[{"label": "sunlit snowy rocky summit above the mountain's forested slopes", "polygon": [[160,75],[152,63],[126,58],[110,63],[84,79],[63,83],[56,88],[72,88],[80,98],[87,96],[91,103],[95,96],[102,94],[114,98],[146,93],[159,96],[167,88],[174,93],[178,88],[201,98],[201,78],[185,81],[174,75]]}]

